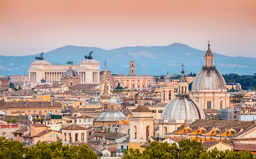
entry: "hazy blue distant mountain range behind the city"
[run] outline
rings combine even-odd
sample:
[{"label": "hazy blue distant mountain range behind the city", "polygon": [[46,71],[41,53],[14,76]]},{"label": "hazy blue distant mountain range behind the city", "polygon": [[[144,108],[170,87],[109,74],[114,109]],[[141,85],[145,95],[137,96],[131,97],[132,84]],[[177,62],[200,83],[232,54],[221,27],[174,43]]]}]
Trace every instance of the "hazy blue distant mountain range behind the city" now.
[{"label": "hazy blue distant mountain range behind the city", "polygon": [[[104,50],[94,47],[65,46],[50,52],[43,53],[44,60],[51,64],[66,64],[73,61],[74,64],[84,60],[84,55],[93,51],[94,60],[100,62],[100,69],[104,68],[104,60],[112,74],[129,74],[129,63],[135,61],[137,75],[169,75],[180,74],[180,65],[185,64],[186,74],[198,73],[204,65],[203,54],[205,51],[191,48],[185,44],[174,43],[163,47],[122,47]],[[214,50],[212,50],[214,52]],[[247,57],[230,57],[214,53],[214,63],[221,74],[235,73],[239,75],[253,75],[256,73],[256,59]],[[0,71],[3,75],[28,75],[30,63],[35,61],[35,55],[27,56],[0,56]]]}]

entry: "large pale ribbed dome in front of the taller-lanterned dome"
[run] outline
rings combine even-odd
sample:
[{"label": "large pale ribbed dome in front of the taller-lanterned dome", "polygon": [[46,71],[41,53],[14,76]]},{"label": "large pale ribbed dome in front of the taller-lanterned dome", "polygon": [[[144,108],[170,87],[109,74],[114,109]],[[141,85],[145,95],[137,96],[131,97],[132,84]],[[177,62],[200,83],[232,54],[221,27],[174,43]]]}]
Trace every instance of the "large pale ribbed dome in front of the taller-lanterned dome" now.
[{"label": "large pale ribbed dome in front of the taller-lanterned dome", "polygon": [[165,107],[161,120],[204,119],[201,106],[189,95],[177,95]]}]

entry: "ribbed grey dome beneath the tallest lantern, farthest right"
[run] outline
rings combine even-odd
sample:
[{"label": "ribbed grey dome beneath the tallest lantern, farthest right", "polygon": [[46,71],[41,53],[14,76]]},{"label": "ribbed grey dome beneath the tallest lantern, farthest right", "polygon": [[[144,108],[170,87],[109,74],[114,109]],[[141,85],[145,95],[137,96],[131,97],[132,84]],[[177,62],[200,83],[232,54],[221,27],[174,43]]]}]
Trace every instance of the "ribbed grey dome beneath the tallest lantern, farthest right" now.
[{"label": "ribbed grey dome beneath the tallest lantern, farthest right", "polygon": [[195,77],[192,92],[201,90],[227,91],[225,79],[215,67],[204,67]]}]

